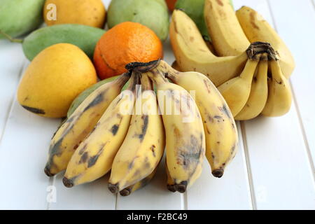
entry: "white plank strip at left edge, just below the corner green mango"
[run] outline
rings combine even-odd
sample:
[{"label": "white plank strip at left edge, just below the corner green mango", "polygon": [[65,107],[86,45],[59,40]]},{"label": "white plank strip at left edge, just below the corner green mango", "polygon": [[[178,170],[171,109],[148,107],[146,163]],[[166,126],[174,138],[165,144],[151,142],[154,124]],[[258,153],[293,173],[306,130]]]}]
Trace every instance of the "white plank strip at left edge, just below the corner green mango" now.
[{"label": "white plank strip at left edge, just below the corner green mango", "polygon": [[25,57],[20,43],[0,40],[0,141]]}]

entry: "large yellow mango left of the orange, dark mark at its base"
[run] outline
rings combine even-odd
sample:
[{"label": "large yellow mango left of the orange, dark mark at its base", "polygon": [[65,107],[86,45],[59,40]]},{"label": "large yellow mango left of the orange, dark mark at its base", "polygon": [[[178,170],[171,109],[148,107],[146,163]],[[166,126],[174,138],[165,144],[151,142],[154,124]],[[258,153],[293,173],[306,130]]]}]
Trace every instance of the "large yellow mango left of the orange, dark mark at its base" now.
[{"label": "large yellow mango left of the orange, dark mark at its base", "polygon": [[92,62],[76,45],[57,43],[29,64],[18,87],[23,108],[48,118],[63,118],[80,92],[97,83]]}]

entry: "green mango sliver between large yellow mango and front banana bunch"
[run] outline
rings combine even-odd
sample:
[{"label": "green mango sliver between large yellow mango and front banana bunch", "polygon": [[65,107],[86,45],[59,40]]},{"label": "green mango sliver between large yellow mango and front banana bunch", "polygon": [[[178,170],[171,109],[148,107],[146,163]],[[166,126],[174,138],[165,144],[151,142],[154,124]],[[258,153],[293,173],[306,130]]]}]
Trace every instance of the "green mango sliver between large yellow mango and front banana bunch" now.
[{"label": "green mango sliver between large yellow mango and front banana bunch", "polygon": [[[88,87],[86,90],[84,90],[83,92],[81,92],[78,97],[76,97],[76,99],[73,100],[71,106],[69,107],[68,113],[67,113],[67,117],[69,118],[71,116],[71,114],[76,111],[77,107],[80,106],[80,104],[85,100],[86,97],[88,97],[92,92],[94,92],[94,90],[96,90],[98,87],[100,87],[101,85],[104,85],[105,83],[109,83],[112,80],[115,80],[116,78],[118,78],[119,76],[113,76],[111,78],[106,78],[98,83],[95,83],[94,85]],[[129,81],[124,85],[123,90],[127,89]]]}]

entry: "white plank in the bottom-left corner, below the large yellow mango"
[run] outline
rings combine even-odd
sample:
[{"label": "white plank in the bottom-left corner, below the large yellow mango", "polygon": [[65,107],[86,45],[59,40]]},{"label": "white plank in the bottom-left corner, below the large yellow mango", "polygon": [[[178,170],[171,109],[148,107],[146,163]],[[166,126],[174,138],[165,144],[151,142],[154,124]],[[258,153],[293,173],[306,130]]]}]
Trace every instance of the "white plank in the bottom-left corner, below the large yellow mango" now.
[{"label": "white plank in the bottom-left corner, below the large yellow mango", "polygon": [[59,123],[29,113],[14,100],[0,145],[0,209],[46,209],[49,179],[43,167]]}]

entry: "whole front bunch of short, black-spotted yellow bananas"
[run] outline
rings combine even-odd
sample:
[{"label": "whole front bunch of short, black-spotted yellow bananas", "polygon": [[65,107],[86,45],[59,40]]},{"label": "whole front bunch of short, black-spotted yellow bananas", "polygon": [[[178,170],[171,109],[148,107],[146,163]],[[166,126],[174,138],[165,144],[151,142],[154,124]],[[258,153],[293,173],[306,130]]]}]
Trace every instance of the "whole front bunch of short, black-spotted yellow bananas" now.
[{"label": "whole front bunch of short, black-spotted yellow bananas", "polygon": [[59,127],[45,174],[65,170],[63,183],[71,188],[111,172],[109,190],[127,196],[153,178],[166,151],[166,186],[172,192],[185,193],[193,185],[204,157],[212,174],[223,176],[237,152],[237,127],[211,80],[162,60],[126,68],[128,73],[94,90]]}]

